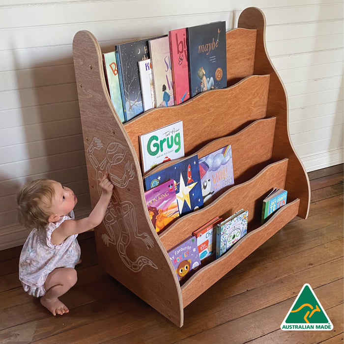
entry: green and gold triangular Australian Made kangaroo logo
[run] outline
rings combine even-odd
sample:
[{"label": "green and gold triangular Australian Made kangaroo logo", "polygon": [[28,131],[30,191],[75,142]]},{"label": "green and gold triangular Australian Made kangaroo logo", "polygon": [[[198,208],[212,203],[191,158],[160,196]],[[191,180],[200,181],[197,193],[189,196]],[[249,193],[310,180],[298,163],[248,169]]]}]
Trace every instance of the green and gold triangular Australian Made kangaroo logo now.
[{"label": "green and gold triangular Australian Made kangaroo logo", "polygon": [[281,324],[284,331],[330,331],[333,325],[313,289],[305,284]]}]

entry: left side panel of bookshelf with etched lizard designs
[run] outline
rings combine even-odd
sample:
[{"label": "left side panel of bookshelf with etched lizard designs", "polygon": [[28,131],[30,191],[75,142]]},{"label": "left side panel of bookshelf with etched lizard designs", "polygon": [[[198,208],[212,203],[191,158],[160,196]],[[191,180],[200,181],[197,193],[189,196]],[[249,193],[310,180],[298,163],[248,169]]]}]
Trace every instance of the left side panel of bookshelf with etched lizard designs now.
[{"label": "left side panel of bookshelf with etched lizard designs", "polygon": [[90,32],[75,35],[73,57],[92,206],[100,195],[99,177],[108,172],[115,185],[104,221],[95,229],[99,263],[182,326],[179,282],[148,217],[139,162],[111,103],[101,50]]}]

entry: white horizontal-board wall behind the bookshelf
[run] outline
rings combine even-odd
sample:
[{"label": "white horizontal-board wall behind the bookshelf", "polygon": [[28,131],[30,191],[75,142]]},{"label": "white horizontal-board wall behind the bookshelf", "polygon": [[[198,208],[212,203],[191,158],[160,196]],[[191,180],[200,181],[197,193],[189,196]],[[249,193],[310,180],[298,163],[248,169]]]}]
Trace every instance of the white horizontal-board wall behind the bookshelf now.
[{"label": "white horizontal-board wall behind the bookshelf", "polygon": [[[211,5],[210,5],[211,4]],[[261,8],[267,48],[289,98],[290,135],[306,170],[343,162],[342,0],[0,0],[0,249],[20,245],[16,190],[52,178],[90,209],[72,40],[115,43]]]}]

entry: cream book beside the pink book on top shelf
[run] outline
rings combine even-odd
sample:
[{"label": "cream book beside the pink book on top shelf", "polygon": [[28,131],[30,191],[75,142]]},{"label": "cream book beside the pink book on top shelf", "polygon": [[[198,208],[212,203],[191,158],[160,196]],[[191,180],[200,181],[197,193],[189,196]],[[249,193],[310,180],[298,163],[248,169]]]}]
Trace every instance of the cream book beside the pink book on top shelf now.
[{"label": "cream book beside the pink book on top shelf", "polygon": [[169,37],[149,41],[156,107],[174,105]]}]

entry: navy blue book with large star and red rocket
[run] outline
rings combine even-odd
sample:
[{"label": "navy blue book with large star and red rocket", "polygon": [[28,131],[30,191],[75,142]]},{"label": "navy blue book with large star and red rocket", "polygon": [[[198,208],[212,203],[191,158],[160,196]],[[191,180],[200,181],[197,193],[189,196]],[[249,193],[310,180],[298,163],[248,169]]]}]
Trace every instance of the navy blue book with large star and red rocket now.
[{"label": "navy blue book with large star and red rocket", "polygon": [[198,155],[192,155],[164,170],[153,172],[143,178],[145,190],[149,190],[169,179],[174,180],[179,214],[198,210],[203,205]]}]

